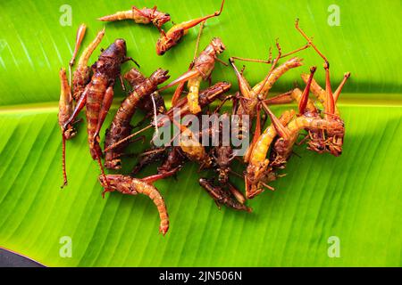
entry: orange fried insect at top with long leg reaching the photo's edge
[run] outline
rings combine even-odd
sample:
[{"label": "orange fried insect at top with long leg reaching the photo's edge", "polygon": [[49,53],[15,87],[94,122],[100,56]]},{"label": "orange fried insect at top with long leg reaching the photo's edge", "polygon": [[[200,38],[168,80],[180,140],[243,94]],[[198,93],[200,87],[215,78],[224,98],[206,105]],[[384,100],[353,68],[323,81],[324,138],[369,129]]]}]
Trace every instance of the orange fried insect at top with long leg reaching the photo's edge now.
[{"label": "orange fried insect at top with long leg reaching the photo's edge", "polygon": [[211,15],[207,15],[205,17],[201,17],[194,20],[188,20],[180,24],[174,25],[167,32],[164,32],[163,29],[161,29],[161,37],[159,37],[158,41],[156,42],[156,53],[158,55],[163,55],[164,53],[169,51],[174,45],[177,45],[179,43],[181,37],[183,37],[188,33],[189,28],[193,28],[207,19],[219,16],[222,12],[224,3],[225,0],[222,0],[220,11],[214,12]]}]

